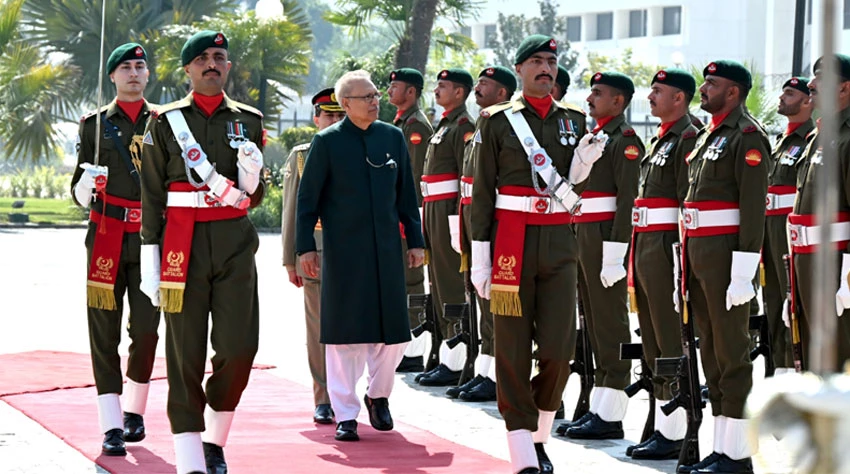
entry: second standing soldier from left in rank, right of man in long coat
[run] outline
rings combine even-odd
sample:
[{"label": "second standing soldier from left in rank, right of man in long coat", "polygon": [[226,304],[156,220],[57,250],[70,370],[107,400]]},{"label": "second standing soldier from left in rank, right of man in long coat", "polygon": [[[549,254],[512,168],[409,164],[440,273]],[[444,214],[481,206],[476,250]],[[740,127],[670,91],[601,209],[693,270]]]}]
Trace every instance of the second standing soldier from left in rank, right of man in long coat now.
[{"label": "second standing soldier from left in rank, right of man in long coat", "polygon": [[466,360],[466,344],[461,342],[450,349],[446,343],[456,331],[454,322],[443,316],[443,305],[464,301],[460,255],[452,249],[452,234],[456,235],[460,229],[458,202],[463,151],[475,132],[475,123],[466,110],[466,98],[470,92],[472,76],[463,69],[443,69],[437,74],[434,98],[445,111],[428,144],[420,185],[429,260],[428,280],[443,342],[439,349],[440,364],[416,377],[416,381],[425,386],[457,385]]}]

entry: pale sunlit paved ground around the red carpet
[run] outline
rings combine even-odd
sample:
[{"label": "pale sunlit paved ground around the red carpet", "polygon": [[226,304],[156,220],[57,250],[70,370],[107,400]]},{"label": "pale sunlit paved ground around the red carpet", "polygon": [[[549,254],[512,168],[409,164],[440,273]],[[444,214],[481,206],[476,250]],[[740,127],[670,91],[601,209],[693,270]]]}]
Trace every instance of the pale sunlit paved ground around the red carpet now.
[{"label": "pale sunlit paved ground around the red carpet", "polygon": [[[88,352],[85,323],[85,247],[82,229],[0,228],[2,268],[0,295],[0,353],[31,350]],[[261,330],[256,361],[274,364],[275,373],[309,385],[304,343],[301,291],[286,280],[281,267],[280,235],[261,235],[257,255],[260,279]],[[636,322],[632,321],[633,327]],[[161,330],[164,331],[164,325]],[[126,353],[127,342],[121,346]],[[160,348],[160,354],[164,355]],[[761,379],[761,364],[755,369]],[[463,403],[445,398],[443,389],[413,384],[413,375],[398,375],[391,398],[393,417],[457,443],[507,459],[504,424],[495,403]],[[565,403],[571,411],[578,396],[578,379],[567,386]],[[361,389],[362,391],[363,389]],[[92,400],[94,403],[94,400]],[[648,405],[643,394],[632,400],[621,441],[574,442],[553,437],[547,448],[558,472],[644,473],[674,472],[675,462],[637,463],[624,454],[639,439]],[[311,416],[312,407],[304,407]],[[569,413],[568,413],[569,416]],[[713,421],[703,423],[702,451],[711,449]],[[787,462],[772,439],[762,439],[758,472],[788,472]],[[770,461],[769,463],[767,461]],[[76,450],[45,431],[20,412],[0,402],[0,472],[104,472]]]}]

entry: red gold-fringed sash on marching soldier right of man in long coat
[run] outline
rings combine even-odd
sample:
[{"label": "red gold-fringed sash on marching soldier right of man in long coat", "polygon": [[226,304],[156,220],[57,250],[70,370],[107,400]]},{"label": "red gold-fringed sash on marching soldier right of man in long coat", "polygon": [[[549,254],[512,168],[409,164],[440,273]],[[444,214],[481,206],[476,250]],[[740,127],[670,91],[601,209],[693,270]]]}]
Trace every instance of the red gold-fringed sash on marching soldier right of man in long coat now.
[{"label": "red gold-fringed sash on marching soldier right of man in long coat", "polygon": [[[540,195],[526,186],[502,186],[499,193],[507,196]],[[569,224],[569,212],[536,214],[496,209],[499,227],[493,252],[493,274],[490,287],[490,310],[502,316],[522,316],[519,284],[522,276],[522,254],[525,248],[525,227],[528,225]]]}]

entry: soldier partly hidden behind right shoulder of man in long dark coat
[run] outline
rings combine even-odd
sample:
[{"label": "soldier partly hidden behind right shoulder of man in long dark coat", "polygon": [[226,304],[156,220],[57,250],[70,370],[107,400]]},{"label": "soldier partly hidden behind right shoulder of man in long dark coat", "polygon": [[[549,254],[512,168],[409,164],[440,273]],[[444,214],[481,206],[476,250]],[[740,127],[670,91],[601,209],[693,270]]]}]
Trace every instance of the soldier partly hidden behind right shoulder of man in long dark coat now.
[{"label": "soldier partly hidden behind right shoulder of man in long dark coat", "polygon": [[[401,128],[407,151],[410,155],[413,182],[419,183],[422,171],[425,169],[425,152],[428,141],[434,134],[434,129],[428,118],[419,108],[419,98],[422,97],[422,87],[425,79],[422,73],[412,68],[401,68],[390,72],[390,87],[387,89],[389,103],[398,111],[393,119],[393,125]],[[419,202],[419,213],[422,214],[422,191],[416,188]],[[402,249],[407,253],[407,241],[402,241]],[[407,294],[422,294],[425,292],[425,267],[405,267],[405,282]],[[419,311],[408,309],[408,321],[411,328],[419,325]],[[425,351],[427,350],[430,334],[423,332],[404,350],[404,356],[396,368],[396,372],[422,372],[425,370]]]}]

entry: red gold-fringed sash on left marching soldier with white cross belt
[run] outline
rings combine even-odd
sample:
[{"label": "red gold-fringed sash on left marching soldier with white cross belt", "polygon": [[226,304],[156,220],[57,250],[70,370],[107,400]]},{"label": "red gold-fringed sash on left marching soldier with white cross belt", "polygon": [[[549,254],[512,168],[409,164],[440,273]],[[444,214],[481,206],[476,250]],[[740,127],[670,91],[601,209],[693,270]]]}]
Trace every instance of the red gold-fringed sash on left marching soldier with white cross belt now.
[{"label": "red gold-fringed sash on left marching soldier with white cross belt", "polygon": [[[206,186],[195,188],[189,183],[168,185],[169,192],[208,191]],[[162,238],[162,271],[160,274],[160,302],[166,313],[183,312],[183,291],[189,272],[189,257],[195,222],[211,222],[247,216],[248,211],[231,206],[219,207],[167,207],[165,209],[165,235]]]}]

